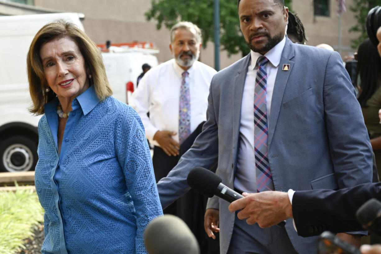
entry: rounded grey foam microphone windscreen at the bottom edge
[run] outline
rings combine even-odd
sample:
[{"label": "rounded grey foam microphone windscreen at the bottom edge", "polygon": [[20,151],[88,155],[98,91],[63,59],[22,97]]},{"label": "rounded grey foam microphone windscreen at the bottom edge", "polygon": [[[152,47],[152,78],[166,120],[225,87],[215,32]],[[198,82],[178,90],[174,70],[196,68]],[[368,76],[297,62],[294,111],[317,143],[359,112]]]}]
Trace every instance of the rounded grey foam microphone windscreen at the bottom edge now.
[{"label": "rounded grey foam microphone windscreen at the bottom edge", "polygon": [[149,254],[200,254],[199,244],[186,223],[170,214],[148,224],[144,243]]}]

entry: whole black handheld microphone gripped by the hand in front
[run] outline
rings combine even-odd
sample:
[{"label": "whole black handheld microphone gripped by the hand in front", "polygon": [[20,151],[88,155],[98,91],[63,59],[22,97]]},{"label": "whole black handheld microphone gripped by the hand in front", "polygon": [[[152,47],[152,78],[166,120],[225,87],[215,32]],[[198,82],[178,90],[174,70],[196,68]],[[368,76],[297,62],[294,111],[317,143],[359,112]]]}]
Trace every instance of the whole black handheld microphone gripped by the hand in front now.
[{"label": "whole black handheld microphone gripped by the hand in front", "polygon": [[[229,203],[243,198],[237,191],[224,185],[221,177],[203,167],[195,167],[192,169],[188,174],[187,183],[192,189],[208,198],[216,195]],[[277,226],[284,227],[285,224],[286,221],[283,220],[278,223]]]}]

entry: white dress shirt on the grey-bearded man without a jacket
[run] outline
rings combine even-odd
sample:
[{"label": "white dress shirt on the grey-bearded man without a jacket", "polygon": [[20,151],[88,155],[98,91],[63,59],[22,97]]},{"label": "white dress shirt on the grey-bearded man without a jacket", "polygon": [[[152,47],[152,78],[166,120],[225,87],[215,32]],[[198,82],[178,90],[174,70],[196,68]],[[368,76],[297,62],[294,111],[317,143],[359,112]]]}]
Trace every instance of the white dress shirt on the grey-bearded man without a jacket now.
[{"label": "white dress shirt on the grey-bearded man without a jacket", "polygon": [[[146,137],[153,145],[158,130],[176,132],[173,139],[179,142],[179,96],[183,69],[174,59],[150,69],[132,94],[131,106],[142,119]],[[191,132],[206,120],[210,81],[216,70],[195,61],[189,72],[191,95]],[[149,117],[147,116],[149,112]]]}]

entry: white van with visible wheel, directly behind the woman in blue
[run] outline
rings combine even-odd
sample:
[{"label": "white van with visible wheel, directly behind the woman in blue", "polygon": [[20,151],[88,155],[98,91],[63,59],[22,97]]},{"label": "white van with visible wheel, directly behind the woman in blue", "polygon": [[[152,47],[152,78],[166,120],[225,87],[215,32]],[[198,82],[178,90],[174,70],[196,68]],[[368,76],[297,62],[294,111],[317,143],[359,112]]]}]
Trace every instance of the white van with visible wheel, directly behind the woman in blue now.
[{"label": "white van with visible wheel, directly behind the woman in blue", "polygon": [[37,125],[31,105],[26,56],[34,35],[54,19],[71,20],[83,29],[81,13],[0,16],[0,171],[34,170]]}]

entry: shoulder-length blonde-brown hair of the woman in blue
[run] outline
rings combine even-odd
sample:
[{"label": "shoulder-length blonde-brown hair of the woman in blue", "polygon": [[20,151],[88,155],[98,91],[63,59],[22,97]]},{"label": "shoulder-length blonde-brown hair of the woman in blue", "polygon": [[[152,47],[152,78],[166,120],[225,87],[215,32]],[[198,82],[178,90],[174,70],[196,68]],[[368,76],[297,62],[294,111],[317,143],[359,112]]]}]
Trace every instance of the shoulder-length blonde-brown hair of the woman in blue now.
[{"label": "shoulder-length blonde-brown hair of the woman in blue", "polygon": [[53,91],[45,91],[49,86],[43,72],[40,49],[45,43],[62,37],[67,37],[77,43],[85,59],[86,68],[90,69],[90,74],[93,76],[89,82],[94,85],[98,99],[102,101],[112,95],[101,51],[90,37],[75,24],[64,19],[58,19],[43,26],[30,44],[27,55],[27,71],[29,92],[33,102],[33,106],[29,109],[31,113],[43,114],[45,112],[44,105],[55,97]]}]

